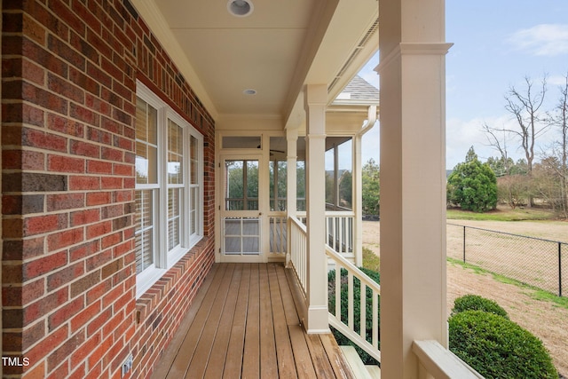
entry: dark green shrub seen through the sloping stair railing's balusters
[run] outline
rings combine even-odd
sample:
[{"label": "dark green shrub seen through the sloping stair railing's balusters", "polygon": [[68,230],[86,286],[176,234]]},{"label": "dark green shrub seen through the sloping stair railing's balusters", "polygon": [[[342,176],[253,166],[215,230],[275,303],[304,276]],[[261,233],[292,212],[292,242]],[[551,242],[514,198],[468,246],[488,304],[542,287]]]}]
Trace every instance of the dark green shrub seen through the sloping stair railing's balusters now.
[{"label": "dark green shrub seen through the sloping stair railing's balusters", "polygon": [[[380,275],[379,272],[375,272],[373,270],[368,270],[363,267],[359,267],[359,270],[365,272],[369,278],[375,280],[376,283],[380,282]],[[335,270],[331,270],[327,273],[327,297],[328,297],[328,310],[329,312],[335,314]],[[353,298],[359,299],[360,298],[360,281],[357,278],[353,278]],[[365,326],[365,335],[367,336],[367,341],[373,341],[373,291],[370,288],[367,288],[367,306],[366,306],[366,326]],[[378,304],[378,321],[379,325],[381,323],[381,304],[380,304],[380,296],[377,298]],[[355,301],[353,304],[353,324],[355,331],[359,333],[360,330],[360,309],[361,304],[358,301]],[[348,281],[347,281],[347,270],[341,270],[341,319],[344,322],[347,322],[347,312],[348,312]],[[335,340],[340,346],[351,345],[355,348],[355,350],[359,353],[359,357],[366,365],[380,365],[379,362],[376,361],[373,357],[367,354],[366,351],[359,348],[359,346],[355,343],[352,343],[349,338],[343,336],[338,330],[335,328],[331,328],[332,333],[335,336]],[[378,333],[379,338],[379,348],[381,348],[381,331],[379,330]]]}]

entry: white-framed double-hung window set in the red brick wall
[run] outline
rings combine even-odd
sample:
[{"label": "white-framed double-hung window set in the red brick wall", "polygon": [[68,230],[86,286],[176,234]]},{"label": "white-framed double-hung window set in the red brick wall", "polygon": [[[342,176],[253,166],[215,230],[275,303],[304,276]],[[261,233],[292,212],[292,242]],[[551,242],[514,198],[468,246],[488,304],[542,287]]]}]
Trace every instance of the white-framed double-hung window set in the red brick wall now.
[{"label": "white-framed double-hung window set in the red brick wall", "polygon": [[137,84],[135,249],[140,296],[201,239],[203,137]]}]

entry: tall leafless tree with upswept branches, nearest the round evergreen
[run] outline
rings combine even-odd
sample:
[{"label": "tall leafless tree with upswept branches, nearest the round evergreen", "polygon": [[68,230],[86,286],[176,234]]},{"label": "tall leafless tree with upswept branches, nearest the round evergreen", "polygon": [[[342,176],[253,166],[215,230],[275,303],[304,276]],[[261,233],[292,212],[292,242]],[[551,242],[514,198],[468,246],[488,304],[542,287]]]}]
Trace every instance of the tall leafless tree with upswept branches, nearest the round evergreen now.
[{"label": "tall leafless tree with upswept branches, nearest the round evergreen", "polygon": [[[525,153],[528,164],[528,176],[533,175],[534,149],[536,139],[548,130],[549,123],[542,116],[540,107],[544,103],[547,92],[546,75],[542,79],[538,89],[534,88],[533,81],[525,76],[525,88],[523,91],[517,90],[514,86],[509,88],[505,100],[505,109],[513,114],[517,121],[517,127],[509,131],[521,141],[521,148]],[[532,197],[529,197],[529,206],[533,205]]]}]

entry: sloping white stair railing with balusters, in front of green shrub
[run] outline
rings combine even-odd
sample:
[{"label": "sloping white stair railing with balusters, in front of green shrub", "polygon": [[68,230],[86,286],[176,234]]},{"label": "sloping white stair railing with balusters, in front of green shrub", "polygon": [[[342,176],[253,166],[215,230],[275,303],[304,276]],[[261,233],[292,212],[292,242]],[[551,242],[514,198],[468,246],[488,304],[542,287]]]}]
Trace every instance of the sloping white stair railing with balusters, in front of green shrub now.
[{"label": "sloping white stair railing with balusters, in front of green shrub", "polygon": [[[335,262],[334,288],[330,288],[330,292],[332,292],[330,296],[335,297],[335,310],[333,310],[333,313],[329,312],[329,325],[337,329],[352,342],[357,343],[370,356],[381,361],[378,318],[381,286],[329,245],[326,246],[326,254],[328,258]],[[347,280],[347,299],[342,299],[342,287],[345,280]],[[354,296],[356,280],[359,285],[359,298]],[[367,292],[372,293],[370,304],[367,304]],[[345,300],[347,300],[347,320],[343,320],[341,312],[342,304],[345,303]],[[359,303],[358,322],[356,322],[353,312],[356,302]],[[367,310],[373,315],[370,323],[367,322]]]}]

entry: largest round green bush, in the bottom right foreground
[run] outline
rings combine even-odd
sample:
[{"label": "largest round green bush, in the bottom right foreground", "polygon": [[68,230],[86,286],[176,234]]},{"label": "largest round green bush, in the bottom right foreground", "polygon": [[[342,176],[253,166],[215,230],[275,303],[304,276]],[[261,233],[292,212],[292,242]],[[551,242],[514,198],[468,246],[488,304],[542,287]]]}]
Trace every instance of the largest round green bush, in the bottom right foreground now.
[{"label": "largest round green bush, in the bottom right foreground", "polygon": [[487,379],[558,379],[537,337],[493,313],[465,311],[448,320],[450,350]]}]

